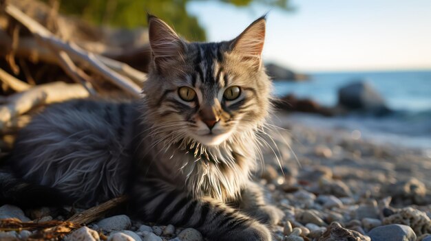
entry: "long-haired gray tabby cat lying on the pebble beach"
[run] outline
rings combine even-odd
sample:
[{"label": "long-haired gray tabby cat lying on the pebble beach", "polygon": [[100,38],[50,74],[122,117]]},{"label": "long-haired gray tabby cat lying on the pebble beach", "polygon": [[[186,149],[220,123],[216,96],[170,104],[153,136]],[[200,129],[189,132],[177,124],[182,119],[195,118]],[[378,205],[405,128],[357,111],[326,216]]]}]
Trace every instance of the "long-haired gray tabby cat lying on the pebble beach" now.
[{"label": "long-haired gray tabby cat lying on the pebble beach", "polygon": [[209,240],[271,240],[282,212],[250,179],[271,109],[265,19],[233,41],[189,43],[149,16],[153,54],[142,100],[74,100],[34,117],[16,141],[17,177],[69,203],[127,194],[137,218]]}]

